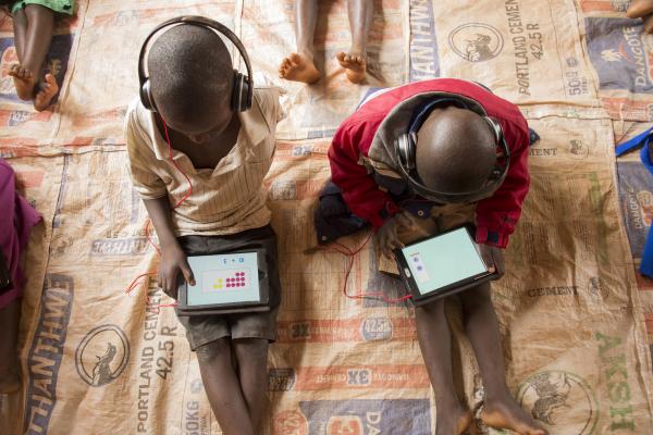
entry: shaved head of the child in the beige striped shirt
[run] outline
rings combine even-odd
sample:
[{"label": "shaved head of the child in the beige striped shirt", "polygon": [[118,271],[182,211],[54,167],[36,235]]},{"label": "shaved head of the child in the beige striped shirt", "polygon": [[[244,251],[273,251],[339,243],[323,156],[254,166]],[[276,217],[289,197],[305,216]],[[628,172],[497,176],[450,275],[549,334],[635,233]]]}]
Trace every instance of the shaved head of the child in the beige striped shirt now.
[{"label": "shaved head of the child in the beige striped shirt", "polygon": [[193,24],[169,28],[152,44],[148,72],[157,109],[173,128],[201,133],[226,114],[231,120],[231,55],[212,29]]}]

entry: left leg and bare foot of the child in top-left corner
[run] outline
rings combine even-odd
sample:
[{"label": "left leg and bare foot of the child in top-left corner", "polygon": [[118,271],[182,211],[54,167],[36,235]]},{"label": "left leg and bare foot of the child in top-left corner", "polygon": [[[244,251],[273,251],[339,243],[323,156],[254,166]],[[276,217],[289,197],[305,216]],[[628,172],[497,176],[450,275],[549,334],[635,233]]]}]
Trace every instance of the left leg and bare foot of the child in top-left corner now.
[{"label": "left leg and bare foot of the child in top-left corner", "polygon": [[21,63],[12,65],[10,75],[14,77],[16,94],[22,100],[34,98],[37,78],[46,60],[54,28],[54,12],[40,4],[25,7],[27,27]]}]

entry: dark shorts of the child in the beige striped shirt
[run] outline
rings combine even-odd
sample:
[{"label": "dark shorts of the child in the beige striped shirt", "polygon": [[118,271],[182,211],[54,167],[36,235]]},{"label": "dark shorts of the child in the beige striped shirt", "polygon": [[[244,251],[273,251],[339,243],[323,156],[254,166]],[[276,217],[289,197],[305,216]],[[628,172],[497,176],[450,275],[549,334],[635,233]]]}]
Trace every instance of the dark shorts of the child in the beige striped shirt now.
[{"label": "dark shorts of the child in the beige striped shirt", "polygon": [[246,249],[262,249],[268,263],[270,301],[272,309],[266,312],[209,315],[177,315],[186,328],[190,349],[219,338],[276,339],[276,313],[281,300],[276,234],[270,225],[226,236],[183,236],[180,245],[188,256],[238,252]]}]

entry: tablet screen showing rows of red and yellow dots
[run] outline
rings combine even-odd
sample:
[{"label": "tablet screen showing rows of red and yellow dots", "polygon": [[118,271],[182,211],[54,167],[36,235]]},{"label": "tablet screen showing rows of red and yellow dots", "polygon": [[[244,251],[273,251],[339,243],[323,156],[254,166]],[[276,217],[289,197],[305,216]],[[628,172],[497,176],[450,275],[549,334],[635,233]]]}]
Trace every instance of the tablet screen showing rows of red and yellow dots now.
[{"label": "tablet screen showing rows of red and yellow dots", "polygon": [[256,252],[188,257],[188,264],[196,282],[188,306],[260,301]]}]

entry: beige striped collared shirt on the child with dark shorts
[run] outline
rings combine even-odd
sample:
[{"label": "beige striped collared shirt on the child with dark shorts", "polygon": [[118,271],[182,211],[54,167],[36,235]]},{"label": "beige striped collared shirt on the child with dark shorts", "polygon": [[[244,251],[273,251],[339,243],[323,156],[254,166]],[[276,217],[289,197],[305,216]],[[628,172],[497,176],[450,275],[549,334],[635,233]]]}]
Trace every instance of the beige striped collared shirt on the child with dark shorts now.
[{"label": "beige striped collared shirt on the child with dark shorts", "polygon": [[[275,150],[276,123],[283,117],[278,88],[256,88],[251,109],[239,112],[234,148],[214,169],[195,169],[181,151],[172,156],[193,183],[190,195],[172,211],[175,235],[226,235],[270,222],[263,178]],[[125,139],[134,188],[143,199],[168,196],[170,207],[188,191],[188,182],[169,159],[153,113],[139,100],[130,104]]]}]

